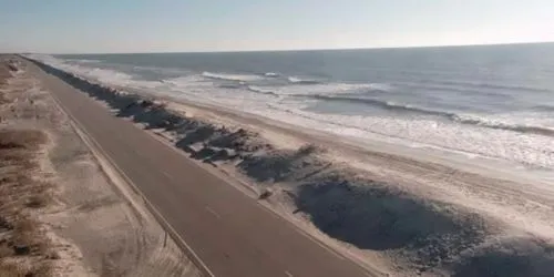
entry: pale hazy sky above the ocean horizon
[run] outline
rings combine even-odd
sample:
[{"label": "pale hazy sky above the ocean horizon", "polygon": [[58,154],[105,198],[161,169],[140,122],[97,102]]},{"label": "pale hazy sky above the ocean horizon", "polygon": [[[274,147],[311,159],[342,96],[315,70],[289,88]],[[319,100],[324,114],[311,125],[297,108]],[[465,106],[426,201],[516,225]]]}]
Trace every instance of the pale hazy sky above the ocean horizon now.
[{"label": "pale hazy sky above the ocean horizon", "polygon": [[0,52],[554,41],[553,0],[0,0]]}]

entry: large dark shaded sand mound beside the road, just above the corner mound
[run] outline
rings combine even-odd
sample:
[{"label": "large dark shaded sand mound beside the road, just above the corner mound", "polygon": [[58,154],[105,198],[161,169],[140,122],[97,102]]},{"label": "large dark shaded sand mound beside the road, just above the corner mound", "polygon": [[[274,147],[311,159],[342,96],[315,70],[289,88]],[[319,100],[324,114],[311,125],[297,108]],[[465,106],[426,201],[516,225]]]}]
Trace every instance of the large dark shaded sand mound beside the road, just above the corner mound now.
[{"label": "large dark shaded sand mound beside the road, just above the corner mound", "polygon": [[367,249],[417,249],[427,264],[458,255],[484,236],[485,225],[478,215],[342,174],[302,184],[297,198],[299,211],[332,237]]}]

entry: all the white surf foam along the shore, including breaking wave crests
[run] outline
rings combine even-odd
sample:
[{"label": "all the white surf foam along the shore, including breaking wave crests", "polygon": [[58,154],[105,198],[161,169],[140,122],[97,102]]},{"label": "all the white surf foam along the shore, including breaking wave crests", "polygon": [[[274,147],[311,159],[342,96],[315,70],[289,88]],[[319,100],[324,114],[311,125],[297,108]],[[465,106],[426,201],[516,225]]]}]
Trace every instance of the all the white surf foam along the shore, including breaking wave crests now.
[{"label": "all the white surf foam along the shore, including breaking wave crests", "polygon": [[[53,57],[39,59],[55,68],[96,79],[107,84],[148,88],[154,94],[183,98],[188,101],[209,103],[235,109],[273,120],[295,124],[306,129],[320,130],[360,140],[396,141],[406,145],[440,147],[454,152],[501,158],[524,165],[554,168],[554,140],[537,134],[522,134],[510,130],[493,130],[486,126],[459,124],[424,117],[361,116],[319,114],[304,109],[316,100],[291,98],[294,95],[362,93],[371,91],[376,84],[291,84],[286,86],[245,86],[228,89],[217,86],[211,79],[259,80],[258,75],[213,74],[187,75],[163,82],[134,80],[132,75],[112,70],[66,64]],[[209,75],[209,78],[207,76]],[[249,90],[248,90],[249,89]],[[260,93],[263,92],[263,93]],[[275,93],[280,95],[276,98]],[[554,126],[552,116],[534,114],[520,116],[517,113],[494,115],[502,122]]]}]

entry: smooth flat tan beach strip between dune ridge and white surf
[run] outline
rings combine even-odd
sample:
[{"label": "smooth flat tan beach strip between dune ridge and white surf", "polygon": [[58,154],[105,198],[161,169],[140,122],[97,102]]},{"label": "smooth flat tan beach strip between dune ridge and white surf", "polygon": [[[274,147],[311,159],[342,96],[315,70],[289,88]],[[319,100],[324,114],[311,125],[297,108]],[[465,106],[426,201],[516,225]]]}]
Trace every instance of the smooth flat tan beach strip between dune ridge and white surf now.
[{"label": "smooth flat tan beach strip between dune ridge and white surf", "polygon": [[[152,98],[166,101],[168,107],[175,111],[186,111],[187,109],[206,110],[218,117],[228,116],[237,122],[248,122],[249,125],[263,129],[270,129],[277,132],[284,132],[290,136],[301,137],[302,141],[314,141],[332,147],[340,147],[352,153],[363,152],[371,155],[390,155],[398,158],[409,158],[414,163],[442,164],[468,171],[474,174],[484,175],[492,178],[506,181],[517,181],[521,183],[533,182],[542,185],[550,185],[554,182],[554,171],[550,168],[530,168],[522,167],[521,164],[509,161],[486,157],[474,153],[463,153],[454,150],[444,150],[430,145],[414,146],[406,143],[391,143],[383,140],[362,140],[350,136],[340,136],[335,133],[328,133],[312,129],[301,129],[299,125],[277,121],[269,117],[263,117],[248,112],[238,112],[232,109],[217,106],[208,103],[194,103],[176,96],[157,95],[124,86],[113,86],[122,91],[130,91],[144,98]],[[182,105],[183,107],[179,107]],[[269,138],[270,140],[270,138]],[[279,143],[273,140],[273,143]]]}]

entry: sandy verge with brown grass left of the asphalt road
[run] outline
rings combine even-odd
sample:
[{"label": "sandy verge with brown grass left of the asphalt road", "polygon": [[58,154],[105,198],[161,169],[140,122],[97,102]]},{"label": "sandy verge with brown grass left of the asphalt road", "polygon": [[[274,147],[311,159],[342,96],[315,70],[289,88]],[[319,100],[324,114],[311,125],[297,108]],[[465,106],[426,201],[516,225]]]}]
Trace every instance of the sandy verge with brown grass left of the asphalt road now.
[{"label": "sandy verge with brown grass left of the asphalt road", "polygon": [[[198,276],[171,239],[164,247],[153,217],[115,189],[117,179],[107,178],[50,93],[27,72],[27,62],[0,59],[0,71],[7,64],[17,68],[0,84],[3,174],[11,151],[4,142],[13,134],[35,137],[32,147],[18,146],[32,151],[24,154],[32,157],[31,167],[0,182],[0,197],[10,193],[12,199],[0,207],[6,223],[0,226],[0,276]],[[33,227],[22,229],[22,223]]]}]

